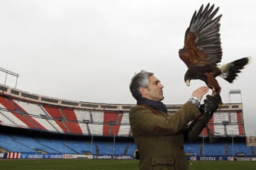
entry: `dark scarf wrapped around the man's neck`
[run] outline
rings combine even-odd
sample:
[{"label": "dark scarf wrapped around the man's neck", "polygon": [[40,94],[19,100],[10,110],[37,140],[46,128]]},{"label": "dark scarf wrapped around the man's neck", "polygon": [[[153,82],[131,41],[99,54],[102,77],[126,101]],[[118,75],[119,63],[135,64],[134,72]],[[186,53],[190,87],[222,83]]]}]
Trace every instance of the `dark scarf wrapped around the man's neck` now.
[{"label": "dark scarf wrapped around the man's neck", "polygon": [[167,113],[167,108],[165,107],[164,103],[160,101],[149,100],[145,97],[141,97],[139,100],[137,100],[137,105],[149,105],[150,107]]}]

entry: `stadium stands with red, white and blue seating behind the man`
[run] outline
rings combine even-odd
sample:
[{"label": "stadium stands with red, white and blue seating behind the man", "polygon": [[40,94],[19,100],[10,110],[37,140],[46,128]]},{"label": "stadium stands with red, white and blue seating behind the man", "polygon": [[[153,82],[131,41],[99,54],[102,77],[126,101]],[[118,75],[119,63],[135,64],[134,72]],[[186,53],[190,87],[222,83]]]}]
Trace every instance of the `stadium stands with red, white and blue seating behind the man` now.
[{"label": "stadium stands with red, white and blue seating behind the man", "polygon": [[[4,70],[6,73],[11,73]],[[137,160],[129,110],[134,105],[81,102],[33,94],[0,84],[0,158]],[[231,90],[229,97],[241,94]],[[168,112],[182,105],[167,105]],[[187,159],[255,161],[255,137],[247,137],[242,103],[226,103],[196,142],[186,143]]]}]

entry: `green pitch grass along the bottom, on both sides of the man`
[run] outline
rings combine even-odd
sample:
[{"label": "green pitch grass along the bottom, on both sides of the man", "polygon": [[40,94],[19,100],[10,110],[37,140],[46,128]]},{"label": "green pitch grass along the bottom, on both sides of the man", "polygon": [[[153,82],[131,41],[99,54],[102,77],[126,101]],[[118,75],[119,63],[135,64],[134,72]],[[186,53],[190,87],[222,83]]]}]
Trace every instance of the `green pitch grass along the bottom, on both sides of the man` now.
[{"label": "green pitch grass along the bottom, on both sides of the man", "polygon": [[[138,169],[138,160],[0,160],[0,169]],[[255,161],[189,161],[190,170],[256,170]]]}]

